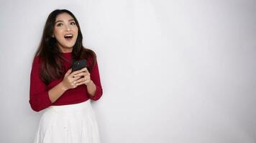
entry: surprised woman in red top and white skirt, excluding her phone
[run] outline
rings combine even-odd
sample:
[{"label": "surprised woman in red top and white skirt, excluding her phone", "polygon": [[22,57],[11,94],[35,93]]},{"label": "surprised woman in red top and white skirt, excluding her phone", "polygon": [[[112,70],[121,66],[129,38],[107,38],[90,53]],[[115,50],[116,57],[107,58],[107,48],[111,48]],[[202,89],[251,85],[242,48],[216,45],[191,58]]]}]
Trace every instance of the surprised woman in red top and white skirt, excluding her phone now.
[{"label": "surprised woman in red top and white skirt, excluding her phone", "polygon": [[[30,74],[29,104],[45,110],[35,143],[99,143],[91,100],[102,95],[96,54],[83,47],[76,17],[57,9],[47,18]],[[87,67],[72,71],[73,61]]]}]

